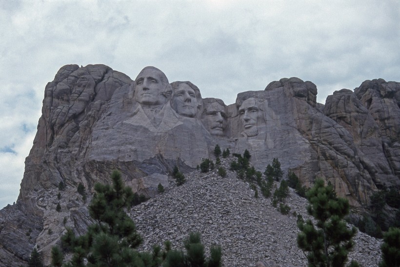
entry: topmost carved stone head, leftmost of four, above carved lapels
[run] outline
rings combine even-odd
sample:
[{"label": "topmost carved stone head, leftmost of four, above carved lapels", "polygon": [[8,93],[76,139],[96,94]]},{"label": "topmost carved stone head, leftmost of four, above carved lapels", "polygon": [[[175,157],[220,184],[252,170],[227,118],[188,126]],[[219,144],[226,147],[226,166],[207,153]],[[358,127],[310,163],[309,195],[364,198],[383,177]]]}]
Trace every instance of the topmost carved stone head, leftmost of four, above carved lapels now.
[{"label": "topmost carved stone head, leftmost of four, above carved lapels", "polygon": [[161,94],[165,89],[159,70],[147,68],[142,70],[135,80],[135,100],[144,105],[160,105],[167,98]]}]

